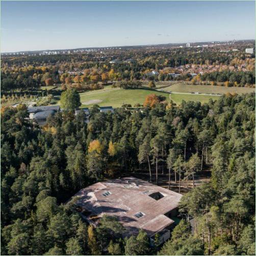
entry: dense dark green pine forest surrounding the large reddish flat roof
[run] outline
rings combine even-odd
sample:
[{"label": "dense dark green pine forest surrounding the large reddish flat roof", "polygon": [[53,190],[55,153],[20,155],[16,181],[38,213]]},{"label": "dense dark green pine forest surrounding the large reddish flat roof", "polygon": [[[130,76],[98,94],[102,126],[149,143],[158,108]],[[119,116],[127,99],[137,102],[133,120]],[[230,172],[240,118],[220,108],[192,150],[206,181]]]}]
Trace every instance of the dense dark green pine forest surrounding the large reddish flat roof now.
[{"label": "dense dark green pine forest surrounding the large reddish flat roof", "polygon": [[[60,112],[41,129],[27,108],[1,110],[1,253],[15,255],[254,255],[255,96],[221,96],[201,105],[156,104],[143,111]],[[148,172],[193,181],[180,202],[183,219],[162,247],[146,234],[121,239],[123,227],[104,217],[96,228],[69,199],[105,178]],[[194,226],[191,227],[191,219]]]}]

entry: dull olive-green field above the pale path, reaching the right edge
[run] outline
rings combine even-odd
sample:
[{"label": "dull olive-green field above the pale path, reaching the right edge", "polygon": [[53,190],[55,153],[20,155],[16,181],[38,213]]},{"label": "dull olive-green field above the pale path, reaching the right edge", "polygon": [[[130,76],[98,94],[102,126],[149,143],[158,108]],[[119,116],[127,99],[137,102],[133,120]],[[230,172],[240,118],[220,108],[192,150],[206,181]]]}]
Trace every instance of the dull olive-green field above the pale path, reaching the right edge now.
[{"label": "dull olive-green field above the pale path, reaching the right edge", "polygon": [[225,87],[214,85],[188,85],[188,84],[173,84],[171,86],[163,88],[163,91],[172,92],[200,92],[200,93],[227,93],[236,92],[238,94],[255,92],[255,88],[250,87]]}]

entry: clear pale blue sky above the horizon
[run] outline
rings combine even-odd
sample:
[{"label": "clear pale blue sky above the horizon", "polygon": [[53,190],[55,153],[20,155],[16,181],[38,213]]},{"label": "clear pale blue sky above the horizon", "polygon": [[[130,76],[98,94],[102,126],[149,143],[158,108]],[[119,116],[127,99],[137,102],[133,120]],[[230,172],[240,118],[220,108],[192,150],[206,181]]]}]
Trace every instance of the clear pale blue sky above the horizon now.
[{"label": "clear pale blue sky above the horizon", "polygon": [[1,1],[2,53],[254,38],[254,1]]}]

